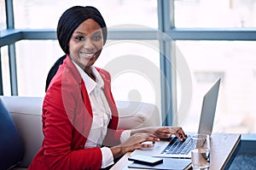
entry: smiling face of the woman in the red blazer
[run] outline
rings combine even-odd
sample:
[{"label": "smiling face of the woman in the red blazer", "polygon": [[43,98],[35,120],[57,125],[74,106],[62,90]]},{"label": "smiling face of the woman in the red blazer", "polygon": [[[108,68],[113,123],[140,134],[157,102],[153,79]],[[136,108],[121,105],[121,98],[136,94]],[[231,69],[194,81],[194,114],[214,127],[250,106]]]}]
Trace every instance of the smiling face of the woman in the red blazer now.
[{"label": "smiling face of the woman in the red blazer", "polygon": [[103,35],[101,26],[92,19],[84,20],[73,31],[68,43],[69,55],[84,71],[96,62],[102,52]]}]

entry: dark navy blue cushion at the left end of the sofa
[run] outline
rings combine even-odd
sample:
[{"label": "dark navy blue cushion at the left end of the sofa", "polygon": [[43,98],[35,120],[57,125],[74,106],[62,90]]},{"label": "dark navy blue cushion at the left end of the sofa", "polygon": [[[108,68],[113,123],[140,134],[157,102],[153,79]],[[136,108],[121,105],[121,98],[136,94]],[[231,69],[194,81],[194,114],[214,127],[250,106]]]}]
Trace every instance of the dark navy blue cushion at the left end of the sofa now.
[{"label": "dark navy blue cushion at the left end of the sofa", "polygon": [[0,99],[0,169],[18,164],[24,154],[24,144],[15,122]]}]

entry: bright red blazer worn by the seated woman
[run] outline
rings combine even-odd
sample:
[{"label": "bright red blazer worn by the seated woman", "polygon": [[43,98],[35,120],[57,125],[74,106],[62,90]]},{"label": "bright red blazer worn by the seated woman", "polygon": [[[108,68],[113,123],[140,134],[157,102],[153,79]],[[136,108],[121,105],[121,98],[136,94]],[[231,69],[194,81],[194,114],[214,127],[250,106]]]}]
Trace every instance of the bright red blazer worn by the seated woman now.
[{"label": "bright red blazer worn by the seated woman", "polygon": [[[110,75],[98,69],[104,80],[104,93],[112,111],[104,145],[119,144],[119,116],[110,89]],[[49,84],[43,104],[42,148],[34,157],[29,170],[100,169],[100,148],[84,149],[92,124],[90,99],[84,81],[72,60],[67,56]]]}]

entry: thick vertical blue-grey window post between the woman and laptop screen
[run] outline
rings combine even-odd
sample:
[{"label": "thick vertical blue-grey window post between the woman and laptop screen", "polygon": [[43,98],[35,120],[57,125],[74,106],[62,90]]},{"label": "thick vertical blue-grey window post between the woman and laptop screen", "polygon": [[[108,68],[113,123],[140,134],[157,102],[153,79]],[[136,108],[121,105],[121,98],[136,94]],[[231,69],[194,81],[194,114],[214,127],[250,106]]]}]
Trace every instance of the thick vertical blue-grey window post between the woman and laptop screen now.
[{"label": "thick vertical blue-grey window post between the woman and laptop screen", "polygon": [[[173,1],[158,1],[158,19],[160,30],[160,70],[161,74],[161,113],[164,126],[171,126],[173,123],[173,113],[176,111],[175,77],[172,74],[172,40],[166,37],[166,32],[170,31],[173,24]],[[171,18],[170,18],[171,17]]]}]

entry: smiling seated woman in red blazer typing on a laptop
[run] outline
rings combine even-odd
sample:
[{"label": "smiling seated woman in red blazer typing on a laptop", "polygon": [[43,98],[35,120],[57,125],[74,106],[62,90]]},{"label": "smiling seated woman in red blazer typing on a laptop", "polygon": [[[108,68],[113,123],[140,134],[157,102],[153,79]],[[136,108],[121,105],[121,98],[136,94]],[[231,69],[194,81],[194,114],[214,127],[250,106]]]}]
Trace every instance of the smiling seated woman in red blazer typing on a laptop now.
[{"label": "smiling seated woman in red blazer typing on a laptop", "polygon": [[102,14],[94,7],[68,8],[57,27],[66,56],[49,72],[43,104],[42,148],[28,169],[100,169],[127,151],[153,147],[181,127],[118,130],[119,115],[108,71],[94,67],[107,40]]}]

